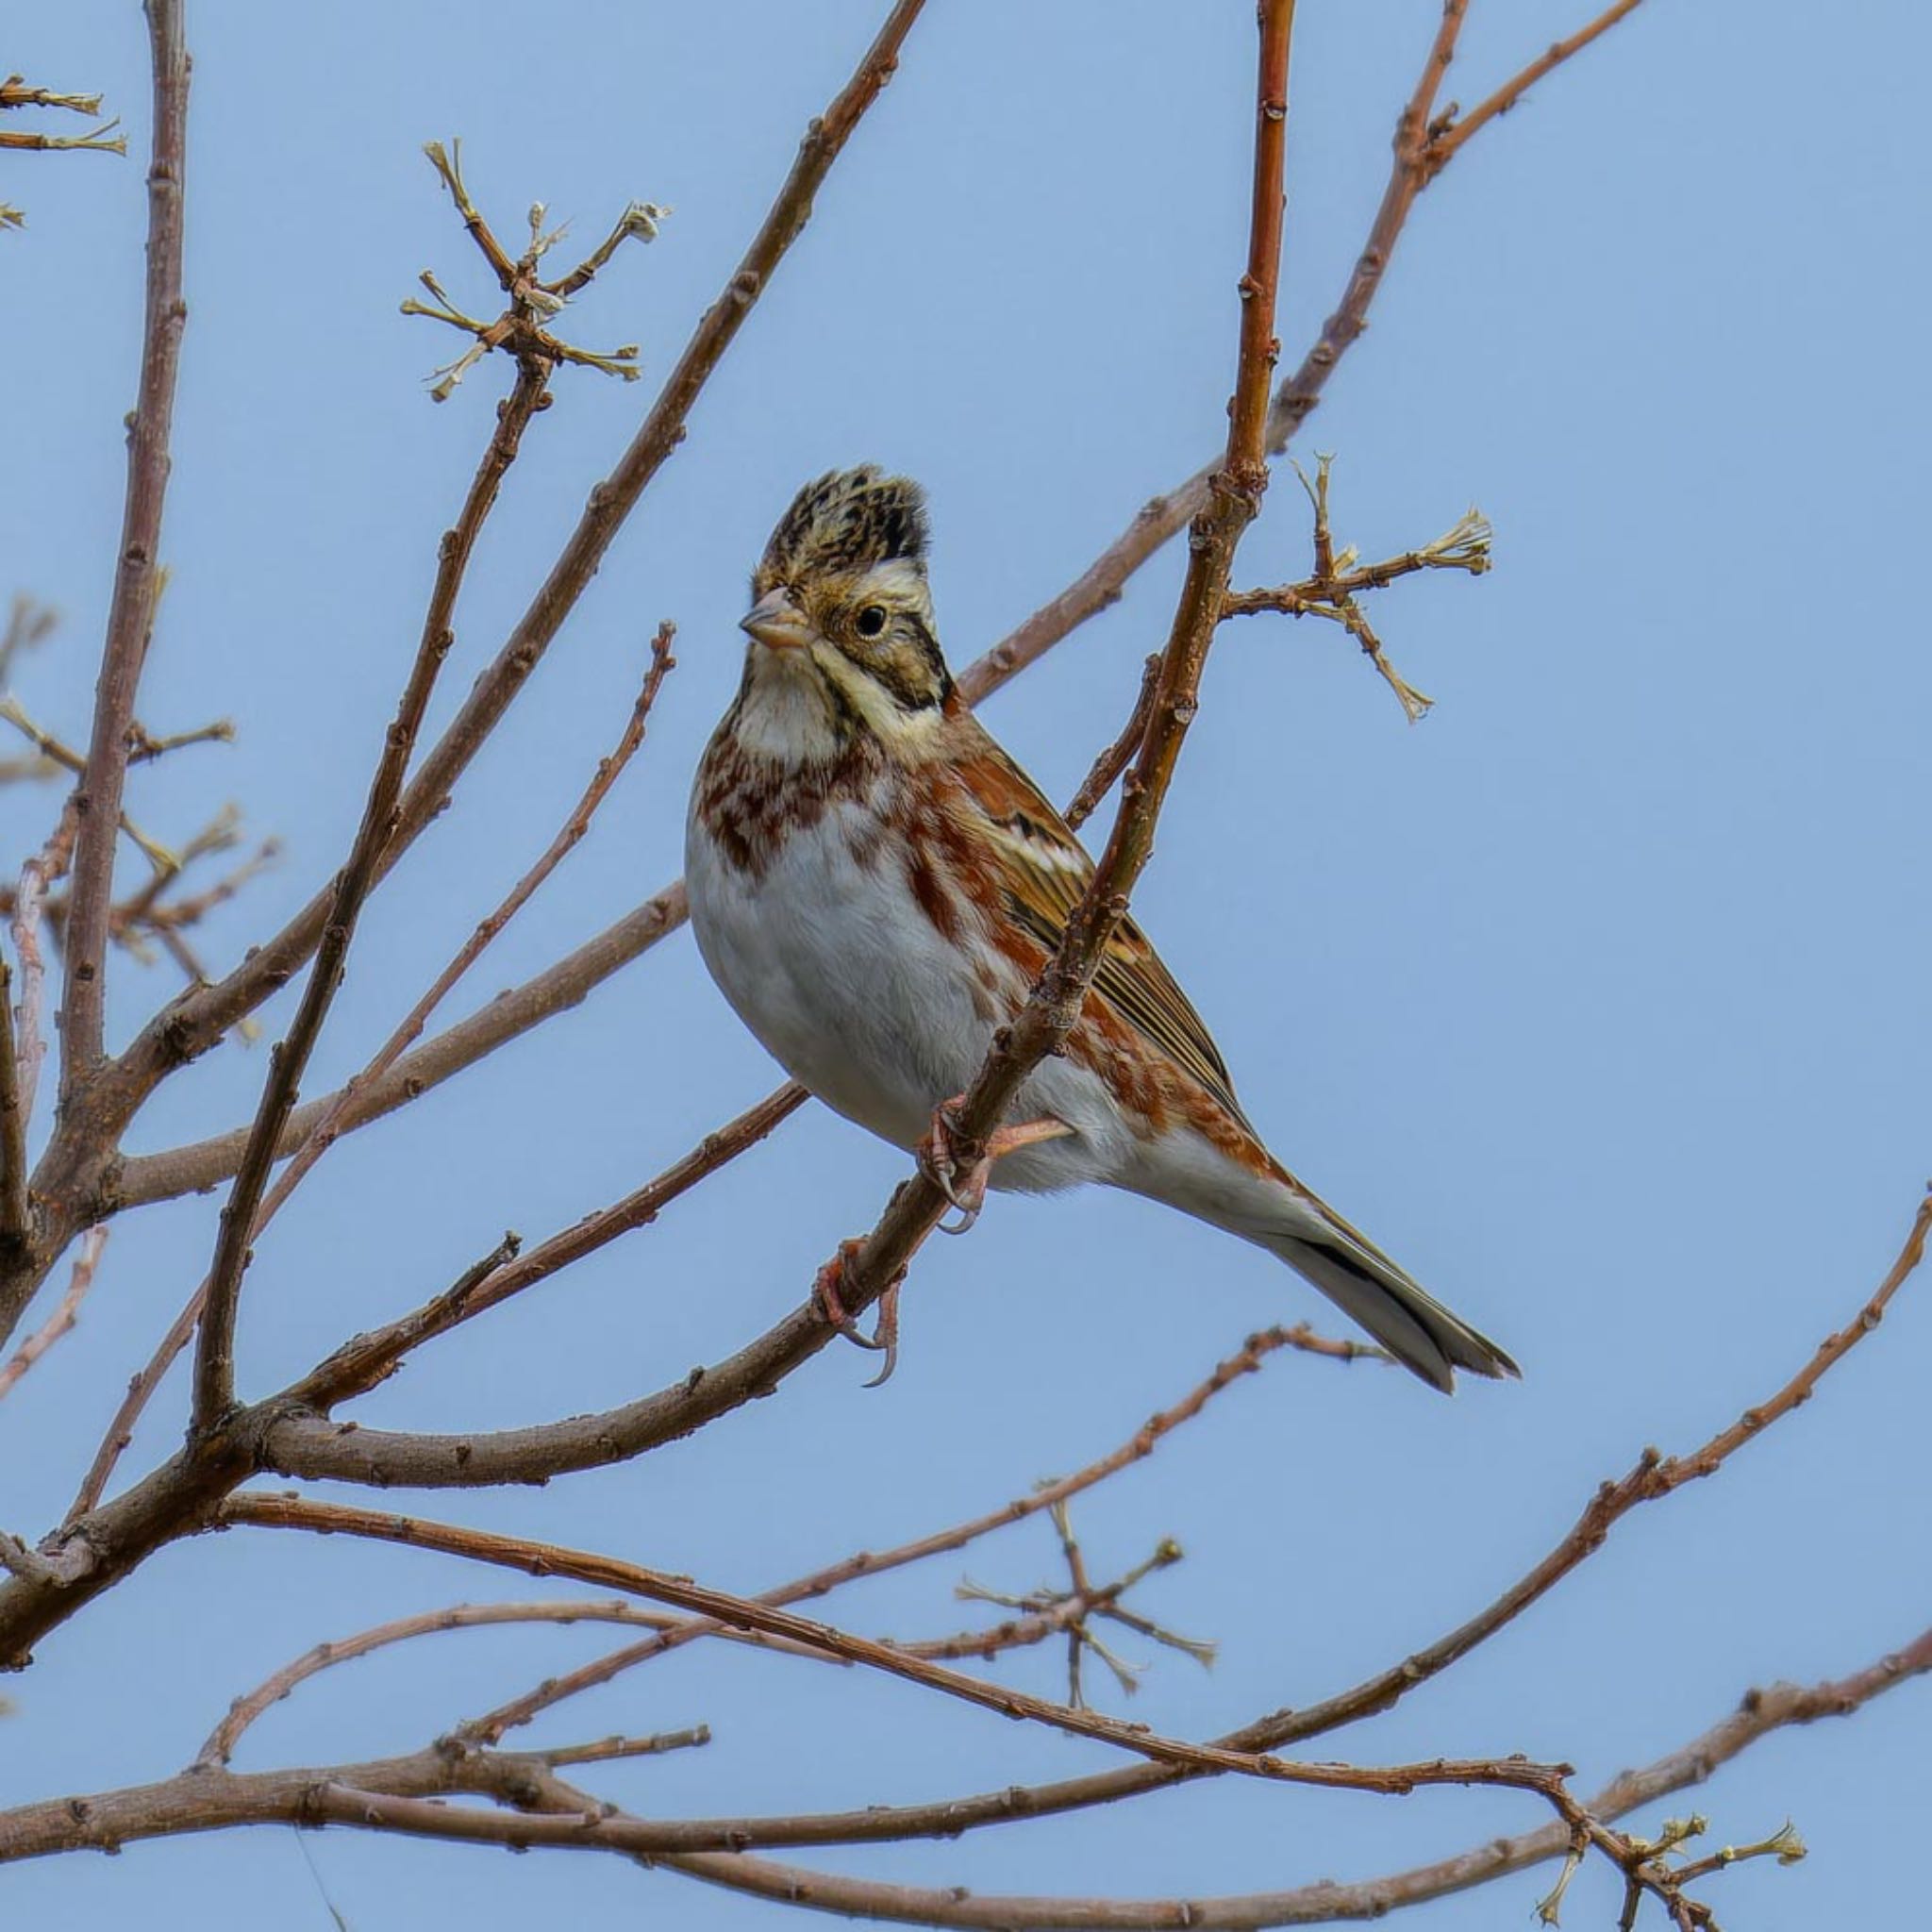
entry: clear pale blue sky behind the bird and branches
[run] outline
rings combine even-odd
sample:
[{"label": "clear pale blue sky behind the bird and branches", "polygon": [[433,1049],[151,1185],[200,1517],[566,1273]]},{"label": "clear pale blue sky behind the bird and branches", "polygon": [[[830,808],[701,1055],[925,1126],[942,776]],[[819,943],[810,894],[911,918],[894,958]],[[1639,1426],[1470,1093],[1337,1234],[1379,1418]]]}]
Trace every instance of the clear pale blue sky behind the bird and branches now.
[{"label": "clear pale blue sky behind the bird and branches", "polygon": [[[1304,0],[1281,336],[1293,361],[1362,243],[1432,0]],[[1476,0],[1445,95],[1478,99],[1586,8]],[[435,541],[506,371],[444,408],[456,338],[398,317],[435,265],[487,303],[421,158],[462,135],[516,232],[543,197],[585,242],[630,197],[676,207],[570,317],[636,340],[645,383],[564,371],[471,572],[448,717],[537,583],[879,0],[462,10],[191,10],[191,321],[143,717],[228,713],[232,750],[135,779],[176,837],[226,798],[284,838],[205,931],[240,949],[328,875],[413,647]],[[1644,1443],[1687,1449],[1768,1395],[1884,1273],[1932,1173],[1926,1126],[1924,156],[1920,8],[1650,0],[1428,191],[1374,328],[1300,454],[1337,452],[1337,527],[1370,556],[1468,502],[1480,582],[1378,599],[1437,699],[1406,726],[1329,626],[1231,628],[1138,908],[1277,1151],[1524,1364],[1443,1403],[1287,1358],[1080,1505],[1095,1567],[1175,1534],[1146,1611],[1215,1636],[1161,1654],[1130,1714],[1206,1737],[1320,1698],[1486,1604]],[[100,87],[147,145],[131,4],[14,8],[6,64]],[[680,668],[589,844],[468,981],[475,1003],[680,866],[684,794],[738,676],[746,574],[792,489],[873,458],[933,502],[941,628],[964,663],[1055,593],[1223,433],[1246,222],[1246,0],[933,0],[668,464],[454,810],[375,898],[309,1090],[359,1065],[562,821],[614,740],[661,616]],[[0,591],[68,628],[21,696],[85,732],[133,400],[141,162],[6,156]],[[1238,566],[1306,560],[1283,473]],[[1177,549],[987,707],[1066,798],[1165,634]],[[0,794],[6,850],[52,794]],[[112,1030],[172,985],[114,960]],[[267,1014],[286,1024],[286,1001]],[[234,1124],[265,1055],[224,1047],[137,1146]],[[690,935],[585,1007],[336,1150],[263,1242],[242,1381],[265,1391],[446,1283],[508,1223],[539,1236],[655,1173],[773,1084]],[[355,1410],[497,1428],[624,1401],[796,1304],[904,1157],[811,1109],[661,1225],[464,1329]],[[216,1200],[116,1225],[81,1329],[0,1406],[0,1524],[54,1520],[122,1379],[193,1287]],[[1861,1667],[1932,1605],[1932,1283],[1822,1395],[1712,1484],[1640,1513],[1445,1681],[1323,1748],[1524,1750],[1580,1787],[1648,1762],[1754,1683]],[[896,1381],[833,1349],[701,1439],[549,1492],[427,1513],[607,1548],[755,1590],[1022,1493],[1122,1439],[1240,1337],[1327,1318],[1256,1250],[1094,1192],[995,1200],[935,1242]],[[166,1455],[180,1379],[126,1464]],[[398,1497],[408,1505],[408,1497]],[[960,1571],[1026,1590],[1028,1524],[837,1600],[866,1633],[972,1619]],[[232,1694],[327,1636],[535,1594],[421,1553],[238,1532],[166,1551],[50,1636],[0,1723],[10,1803],[166,1776]],[[408,1750],[591,1654],[589,1631],[466,1633],[352,1665],[276,1710],[243,1766]],[[1122,1642],[1132,1656],[1146,1646]],[[999,1673],[1059,1694],[1057,1648]],[[1119,1708],[1107,1687],[1099,1694]],[[1899,1924],[1922,1899],[1924,1729],[1909,1685],[1791,1731],[1692,1804],[1714,1837],[1783,1818],[1806,1864],[1710,1888],[1748,1932]],[[976,1791],[1113,1760],[912,1687],[694,1648],[545,1741],[705,1719],[705,1752],[612,1768],[651,1814]],[[1656,1822],[1662,1812],[1650,1814]],[[827,1864],[983,1891],[1240,1891],[1358,1878],[1542,1822],[1507,1795],[1395,1803],[1223,1781],[960,1843]],[[1638,1820],[1640,1824],[1646,1820]],[[597,1857],[332,1832],[309,1849],[355,1932],[676,1922],[779,1909]],[[800,1855],[817,1862],[819,1855]],[[1528,1922],[1548,1874],[1420,1909]],[[1650,1909],[1656,1911],[1654,1907]],[[1613,1886],[1578,1882],[1573,1924]],[[95,1932],[327,1932],[286,1830],[0,1876],[0,1920]]]}]

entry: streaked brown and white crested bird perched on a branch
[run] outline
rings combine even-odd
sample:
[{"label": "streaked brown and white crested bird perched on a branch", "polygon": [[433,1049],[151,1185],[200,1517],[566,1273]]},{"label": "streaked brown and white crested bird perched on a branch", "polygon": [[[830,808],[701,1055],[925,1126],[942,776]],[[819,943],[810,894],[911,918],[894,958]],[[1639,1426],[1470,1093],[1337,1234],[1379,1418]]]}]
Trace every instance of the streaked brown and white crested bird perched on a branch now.
[{"label": "streaked brown and white crested bird perched on a branch", "polygon": [[[744,680],[686,825],[692,925],[738,1016],[796,1080],[956,1192],[945,1103],[1026,999],[1094,862],[952,688],[920,487],[808,483],[752,578]],[[1132,920],[1065,1053],[1024,1084],[987,1182],[1101,1180],[1267,1248],[1399,1362],[1517,1364],[1262,1144],[1221,1053]],[[833,1314],[838,1316],[837,1302]]]}]

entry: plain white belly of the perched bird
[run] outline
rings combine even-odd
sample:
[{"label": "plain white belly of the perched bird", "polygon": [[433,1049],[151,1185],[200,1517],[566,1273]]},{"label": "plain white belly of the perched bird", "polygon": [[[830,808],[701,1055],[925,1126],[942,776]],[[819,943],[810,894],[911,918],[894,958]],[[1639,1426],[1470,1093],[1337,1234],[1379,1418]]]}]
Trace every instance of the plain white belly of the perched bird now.
[{"label": "plain white belly of the perched bird", "polygon": [[[900,1148],[914,1148],[933,1107],[980,1070],[993,1028],[958,947],[920,912],[891,852],[864,866],[840,804],[794,831],[765,871],[724,862],[686,829],[692,929],[711,978],[794,1080]],[[1024,987],[1014,989],[1014,997]],[[1063,1140],[999,1161],[993,1184],[1026,1192],[1117,1179],[1132,1146],[1105,1090],[1066,1059],[1026,1084],[1014,1119],[1053,1115]]]}]

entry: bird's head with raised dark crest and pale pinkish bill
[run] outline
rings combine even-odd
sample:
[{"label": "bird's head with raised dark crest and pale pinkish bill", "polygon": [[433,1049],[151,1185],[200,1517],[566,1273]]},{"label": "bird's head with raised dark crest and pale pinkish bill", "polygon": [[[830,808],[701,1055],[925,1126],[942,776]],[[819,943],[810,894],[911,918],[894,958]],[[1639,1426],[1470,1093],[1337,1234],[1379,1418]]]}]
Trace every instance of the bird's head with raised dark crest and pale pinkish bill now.
[{"label": "bird's head with raised dark crest and pale pinkish bill", "polygon": [[808,483],[765,545],[740,624],[744,697],[784,713],[786,738],[923,738],[952,696],[925,583],[925,493],[873,464]]}]

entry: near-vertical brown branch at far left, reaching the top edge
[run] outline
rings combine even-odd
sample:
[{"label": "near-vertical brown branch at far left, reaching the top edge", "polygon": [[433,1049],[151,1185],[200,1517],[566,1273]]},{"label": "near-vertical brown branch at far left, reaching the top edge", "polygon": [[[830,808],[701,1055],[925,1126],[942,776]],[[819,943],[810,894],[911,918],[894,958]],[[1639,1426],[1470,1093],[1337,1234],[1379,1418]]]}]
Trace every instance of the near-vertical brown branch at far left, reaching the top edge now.
[{"label": "near-vertical brown branch at far left, reaching the top edge", "polygon": [[[95,724],[87,771],[73,792],[79,840],[68,916],[68,974],[60,1016],[60,1092],[68,1101],[100,1063],[106,1001],[108,908],[114,902],[114,844],[128,784],[141,661],[155,618],[160,516],[168,495],[168,439],[182,361],[187,303],[182,299],[184,170],[187,162],[187,44],[182,0],[147,0],[155,68],[155,153],[147,172],[147,313],[141,388],[128,421],[128,502],[116,549],[114,597],[100,647]],[[4,1316],[6,1312],[0,1312]],[[12,1312],[17,1316],[17,1310]],[[0,1318],[0,1335],[12,1325]]]}]

